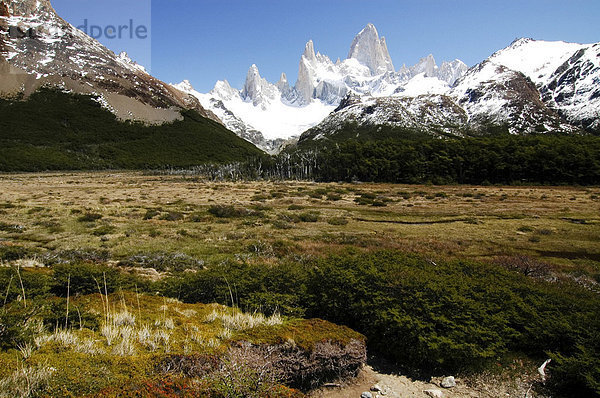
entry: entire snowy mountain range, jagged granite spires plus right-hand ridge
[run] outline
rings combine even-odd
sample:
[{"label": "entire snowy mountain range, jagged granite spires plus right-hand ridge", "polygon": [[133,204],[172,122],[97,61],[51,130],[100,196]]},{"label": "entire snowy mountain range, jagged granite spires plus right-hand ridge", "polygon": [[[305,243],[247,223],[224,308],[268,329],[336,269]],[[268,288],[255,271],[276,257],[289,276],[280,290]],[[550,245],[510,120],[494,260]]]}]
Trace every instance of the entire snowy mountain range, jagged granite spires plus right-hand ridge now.
[{"label": "entire snowy mountain range, jagged granite spires plus right-hand ridge", "polygon": [[315,53],[309,41],[294,86],[285,74],[272,84],[252,65],[241,90],[226,80],[208,94],[187,81],[175,87],[272,153],[302,133],[301,142],[326,139],[348,123],[433,136],[490,127],[512,134],[598,131],[600,44],[518,39],[472,68],[459,60],[438,66],[429,55],[395,70],[385,38],[368,24],[343,61]]}]

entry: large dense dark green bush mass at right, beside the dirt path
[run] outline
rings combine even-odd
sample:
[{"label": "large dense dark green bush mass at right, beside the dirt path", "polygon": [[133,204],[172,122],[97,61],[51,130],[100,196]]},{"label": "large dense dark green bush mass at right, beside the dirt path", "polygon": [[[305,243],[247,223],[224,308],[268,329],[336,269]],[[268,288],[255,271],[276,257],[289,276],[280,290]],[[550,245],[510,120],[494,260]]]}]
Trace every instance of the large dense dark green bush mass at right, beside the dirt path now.
[{"label": "large dense dark green bush mass at right, beside the dirt path", "polygon": [[276,267],[224,264],[163,281],[161,289],[191,302],[225,303],[232,289],[242,307],[298,306],[365,334],[371,349],[407,371],[476,371],[509,352],[551,355],[549,371],[561,375],[556,391],[597,394],[600,297],[531,278],[519,264],[349,252]]}]

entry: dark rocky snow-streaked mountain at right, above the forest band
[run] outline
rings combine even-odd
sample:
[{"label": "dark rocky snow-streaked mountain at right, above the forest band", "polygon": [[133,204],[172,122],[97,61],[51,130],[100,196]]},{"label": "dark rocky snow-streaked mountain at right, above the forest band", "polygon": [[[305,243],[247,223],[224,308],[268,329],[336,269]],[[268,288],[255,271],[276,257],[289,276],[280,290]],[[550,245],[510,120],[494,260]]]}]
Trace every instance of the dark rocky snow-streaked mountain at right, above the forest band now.
[{"label": "dark rocky snow-streaked mountain at right, above the forest band", "polygon": [[427,57],[408,75],[388,97],[349,96],[300,141],[335,139],[348,123],[369,132],[390,126],[439,136],[490,126],[512,134],[600,129],[600,43],[519,39],[466,73],[455,74],[447,63],[437,69]]}]

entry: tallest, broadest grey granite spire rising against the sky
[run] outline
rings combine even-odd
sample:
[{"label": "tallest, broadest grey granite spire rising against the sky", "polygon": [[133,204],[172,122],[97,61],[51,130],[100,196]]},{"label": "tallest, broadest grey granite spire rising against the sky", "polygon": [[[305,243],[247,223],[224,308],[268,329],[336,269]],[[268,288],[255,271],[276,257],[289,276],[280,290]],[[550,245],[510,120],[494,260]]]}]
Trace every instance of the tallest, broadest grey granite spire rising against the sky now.
[{"label": "tallest, broadest grey granite spire rising against the sky", "polygon": [[373,24],[368,24],[356,35],[350,46],[348,59],[356,59],[367,66],[372,75],[394,72],[395,70],[385,38],[379,38],[377,29]]}]

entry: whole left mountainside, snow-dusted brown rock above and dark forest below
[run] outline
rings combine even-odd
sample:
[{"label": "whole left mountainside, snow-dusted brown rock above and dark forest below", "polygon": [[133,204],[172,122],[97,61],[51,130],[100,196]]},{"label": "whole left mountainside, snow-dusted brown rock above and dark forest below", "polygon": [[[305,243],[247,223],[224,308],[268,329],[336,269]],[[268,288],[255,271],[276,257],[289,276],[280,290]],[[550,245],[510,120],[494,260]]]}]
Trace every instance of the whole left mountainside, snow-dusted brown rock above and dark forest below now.
[{"label": "whole left mountainside, snow-dusted brown rock above and dark forest below", "polygon": [[60,18],[0,0],[0,170],[193,167],[263,156],[198,99]]}]

